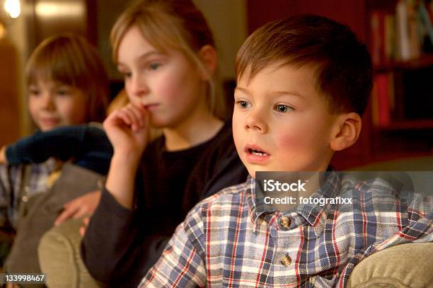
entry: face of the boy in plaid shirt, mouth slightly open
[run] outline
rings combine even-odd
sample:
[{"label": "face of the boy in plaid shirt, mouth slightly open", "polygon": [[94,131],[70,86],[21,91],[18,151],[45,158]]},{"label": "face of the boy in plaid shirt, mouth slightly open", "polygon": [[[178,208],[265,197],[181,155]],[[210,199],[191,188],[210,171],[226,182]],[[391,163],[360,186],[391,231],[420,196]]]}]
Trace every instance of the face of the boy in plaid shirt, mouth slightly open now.
[{"label": "face of the boy in plaid shirt, mouth slightly open", "polygon": [[325,171],[337,115],[315,88],[314,69],[271,64],[238,79],[233,138],[248,173]]}]

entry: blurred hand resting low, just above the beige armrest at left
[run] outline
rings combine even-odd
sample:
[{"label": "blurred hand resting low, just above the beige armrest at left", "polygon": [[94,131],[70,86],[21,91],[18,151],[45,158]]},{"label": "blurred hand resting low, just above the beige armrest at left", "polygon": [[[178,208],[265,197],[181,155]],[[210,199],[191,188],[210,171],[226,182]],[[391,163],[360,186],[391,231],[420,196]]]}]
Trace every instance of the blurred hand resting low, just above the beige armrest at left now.
[{"label": "blurred hand resting low, just above the beige armrest at left", "polygon": [[74,200],[67,202],[64,205],[62,214],[54,221],[54,226],[57,226],[67,219],[79,218],[84,215],[91,215],[98,207],[100,200],[100,191],[88,192],[83,196],[76,197]]}]

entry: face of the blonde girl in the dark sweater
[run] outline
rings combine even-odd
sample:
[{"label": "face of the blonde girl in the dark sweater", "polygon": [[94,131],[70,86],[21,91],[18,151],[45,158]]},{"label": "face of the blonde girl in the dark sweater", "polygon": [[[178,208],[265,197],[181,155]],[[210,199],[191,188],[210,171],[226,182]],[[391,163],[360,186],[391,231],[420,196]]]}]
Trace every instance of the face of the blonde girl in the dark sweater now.
[{"label": "face of the blonde girl in the dark sweater", "polygon": [[128,98],[149,111],[151,125],[175,127],[206,109],[204,81],[181,52],[159,52],[132,26],[117,56]]}]

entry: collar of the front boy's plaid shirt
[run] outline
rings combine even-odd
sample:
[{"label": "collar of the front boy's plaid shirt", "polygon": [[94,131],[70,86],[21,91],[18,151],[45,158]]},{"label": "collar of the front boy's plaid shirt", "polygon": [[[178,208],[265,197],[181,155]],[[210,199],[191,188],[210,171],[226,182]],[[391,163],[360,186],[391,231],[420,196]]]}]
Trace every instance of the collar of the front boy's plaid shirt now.
[{"label": "collar of the front boy's plaid shirt", "polygon": [[[253,223],[254,230],[257,228],[257,220],[264,214],[270,214],[277,212],[276,209],[270,205],[255,205],[255,179],[248,175],[248,187],[247,187],[247,203],[250,212],[250,220]],[[313,198],[332,198],[339,194],[341,189],[341,176],[340,173],[328,169],[326,172],[326,180],[322,188],[317,190],[311,197]],[[333,205],[325,204],[323,206],[313,203],[300,204],[294,209],[282,212],[282,214],[297,213],[304,217],[308,224],[313,227],[314,234],[320,236],[325,228],[325,221],[328,216],[328,212]]]}]

